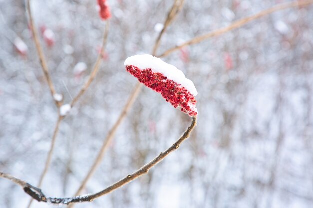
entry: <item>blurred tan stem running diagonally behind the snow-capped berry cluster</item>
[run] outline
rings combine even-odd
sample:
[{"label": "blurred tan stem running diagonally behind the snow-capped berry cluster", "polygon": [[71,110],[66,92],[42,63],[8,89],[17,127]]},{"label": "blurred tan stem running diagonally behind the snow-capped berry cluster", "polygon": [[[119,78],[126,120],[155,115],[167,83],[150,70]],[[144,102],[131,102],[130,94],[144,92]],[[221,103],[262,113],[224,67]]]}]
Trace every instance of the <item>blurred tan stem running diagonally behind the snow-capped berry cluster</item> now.
[{"label": "blurred tan stem running diagonally behind the snow-capped berry cluster", "polygon": [[[170,23],[172,22],[174,17],[178,14],[178,12],[181,10],[181,7],[183,5],[183,1],[184,0],[181,0],[181,3],[177,3],[177,1],[178,0],[175,0],[175,2],[173,4],[173,7],[168,12],[167,19],[165,20],[165,23],[164,23],[164,28],[162,29],[162,31],[160,32],[160,35],[158,36],[158,38],[155,41],[155,45],[153,47],[153,52],[152,52],[153,55],[155,55],[155,53],[156,53],[156,50],[157,50],[157,48],[159,46],[159,41],[160,41],[161,37],[163,36],[164,31],[170,25]],[[179,8],[175,8],[175,7],[179,7]],[[168,20],[168,18],[170,18],[171,20]],[[133,89],[131,95],[129,96],[126,105],[124,106],[123,110],[121,111],[117,121],[114,123],[113,127],[108,132],[106,138],[103,140],[102,147],[99,150],[99,153],[98,153],[97,157],[95,158],[95,160],[94,160],[91,168],[89,169],[87,175],[85,176],[85,178],[81,182],[81,184],[80,184],[78,190],[76,191],[75,195],[79,195],[81,193],[81,191],[85,188],[88,180],[92,177],[92,175],[94,174],[95,170],[100,165],[108,145],[110,144],[111,140],[114,138],[116,130],[118,129],[118,127],[120,126],[122,121],[125,119],[126,115],[128,114],[129,109],[131,108],[132,104],[134,103],[134,101],[136,100],[137,96],[139,95],[141,87],[142,87],[142,84],[140,82],[138,82],[136,84],[136,86],[134,87],[134,89]],[[68,208],[73,208],[73,205],[68,206]]]}]

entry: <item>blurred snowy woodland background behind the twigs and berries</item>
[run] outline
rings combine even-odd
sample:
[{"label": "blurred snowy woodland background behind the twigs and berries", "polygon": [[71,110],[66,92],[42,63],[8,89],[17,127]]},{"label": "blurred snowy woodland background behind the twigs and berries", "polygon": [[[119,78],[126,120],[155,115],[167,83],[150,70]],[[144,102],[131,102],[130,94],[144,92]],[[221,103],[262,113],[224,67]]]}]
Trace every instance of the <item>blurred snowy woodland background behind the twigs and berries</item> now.
[{"label": "blurred snowy woodland background behind the twigs and berries", "polygon": [[[151,53],[172,0],[109,0],[105,60],[62,121],[43,191],[72,196],[135,84],[124,60]],[[286,0],[186,0],[158,54]],[[56,91],[65,103],[90,73],[105,23],[96,0],[32,0]],[[75,208],[311,208],[313,204],[313,6],[273,13],[167,57],[198,90],[198,125],[148,175]],[[41,35],[42,37],[42,35]],[[17,52],[20,38],[27,54]],[[85,62],[81,75],[74,66]],[[34,47],[23,0],[0,0],[0,171],[37,184],[57,108]],[[172,144],[190,117],[144,87],[88,182],[94,193]],[[30,197],[0,179],[0,207]],[[34,202],[32,208],[55,207]],[[58,206],[56,206],[58,207]],[[65,206],[63,206],[65,207]]]}]

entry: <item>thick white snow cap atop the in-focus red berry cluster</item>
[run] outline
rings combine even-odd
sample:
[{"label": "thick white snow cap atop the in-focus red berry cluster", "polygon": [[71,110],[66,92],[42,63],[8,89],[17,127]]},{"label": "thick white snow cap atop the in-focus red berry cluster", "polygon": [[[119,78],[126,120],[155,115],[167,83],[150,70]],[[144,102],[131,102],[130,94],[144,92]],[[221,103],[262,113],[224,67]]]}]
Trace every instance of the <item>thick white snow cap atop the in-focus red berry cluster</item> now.
[{"label": "thick white snow cap atop the in-focus red berry cluster", "polygon": [[198,94],[193,82],[187,79],[182,71],[171,64],[165,63],[160,58],[148,54],[134,55],[128,57],[124,64],[125,66],[136,66],[141,70],[150,68],[153,72],[162,73],[168,79],[181,84],[181,86],[186,88],[194,96]]}]

